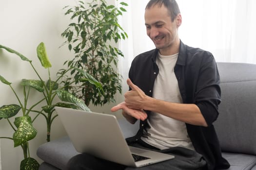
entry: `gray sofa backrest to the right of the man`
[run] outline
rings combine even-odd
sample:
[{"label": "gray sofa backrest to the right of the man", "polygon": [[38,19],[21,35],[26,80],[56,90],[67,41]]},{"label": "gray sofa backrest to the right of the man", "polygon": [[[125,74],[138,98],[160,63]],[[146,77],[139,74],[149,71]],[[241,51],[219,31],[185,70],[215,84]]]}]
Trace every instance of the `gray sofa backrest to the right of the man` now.
[{"label": "gray sofa backrest to the right of the man", "polygon": [[256,154],[256,65],[217,66],[221,103],[214,125],[222,151]]}]

